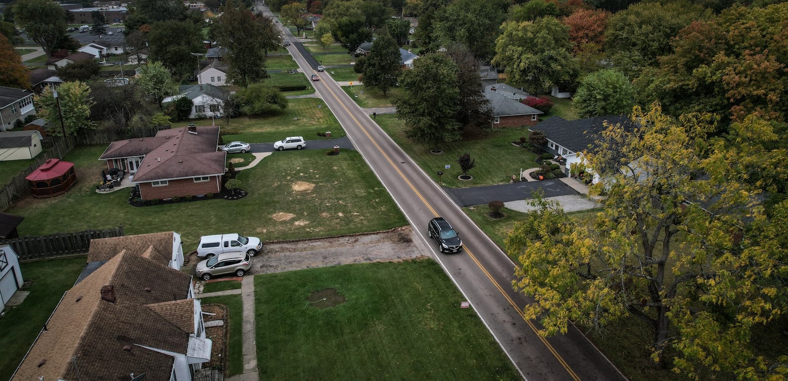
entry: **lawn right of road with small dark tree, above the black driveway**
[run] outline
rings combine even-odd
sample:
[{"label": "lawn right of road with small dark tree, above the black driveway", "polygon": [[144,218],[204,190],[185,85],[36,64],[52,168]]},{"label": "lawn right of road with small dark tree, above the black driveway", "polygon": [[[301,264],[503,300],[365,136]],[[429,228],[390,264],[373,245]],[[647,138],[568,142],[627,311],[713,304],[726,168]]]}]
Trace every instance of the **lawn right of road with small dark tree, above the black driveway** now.
[{"label": "lawn right of road with small dark tree, above the black driveway", "polygon": [[[422,169],[438,181],[440,185],[452,188],[493,185],[509,182],[512,175],[518,175],[520,169],[526,170],[537,166],[535,155],[524,148],[512,145],[520,136],[528,136],[525,127],[498,129],[481,140],[463,140],[441,144],[443,154],[435,155],[431,147],[414,144],[404,134],[404,121],[397,120],[396,114],[377,115],[377,124],[392,136],[392,139],[411,156]],[[457,177],[462,174],[457,159],[459,155],[468,153],[476,166],[468,171],[474,177],[471,181],[462,181]],[[445,169],[450,165],[450,169]],[[444,173],[442,177],[437,172]]]}]

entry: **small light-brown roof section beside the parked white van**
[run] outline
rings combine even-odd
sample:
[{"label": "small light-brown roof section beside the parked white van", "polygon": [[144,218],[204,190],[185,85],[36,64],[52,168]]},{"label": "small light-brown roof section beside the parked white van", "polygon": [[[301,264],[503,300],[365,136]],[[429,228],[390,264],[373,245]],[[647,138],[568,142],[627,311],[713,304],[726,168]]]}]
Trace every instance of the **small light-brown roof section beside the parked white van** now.
[{"label": "small light-brown roof section beside the parked white van", "polygon": [[154,251],[149,253],[147,258],[166,266],[172,259],[173,235],[174,232],[169,231],[92,239],[91,248],[87,252],[87,262],[110,260],[117,255],[121,248],[135,256],[143,256],[143,253],[147,252],[152,245]]}]

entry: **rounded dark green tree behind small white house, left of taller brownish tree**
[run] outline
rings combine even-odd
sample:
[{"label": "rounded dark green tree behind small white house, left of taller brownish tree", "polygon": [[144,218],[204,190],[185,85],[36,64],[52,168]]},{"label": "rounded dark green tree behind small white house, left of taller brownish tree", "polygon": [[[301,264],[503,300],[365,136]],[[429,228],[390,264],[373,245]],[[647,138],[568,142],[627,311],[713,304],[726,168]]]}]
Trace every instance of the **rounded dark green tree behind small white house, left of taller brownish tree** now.
[{"label": "rounded dark green tree behind small white house, left of taller brownish tree", "polygon": [[149,59],[162,62],[179,80],[194,73],[192,53],[205,53],[203,31],[190,21],[158,21],[148,33]]}]

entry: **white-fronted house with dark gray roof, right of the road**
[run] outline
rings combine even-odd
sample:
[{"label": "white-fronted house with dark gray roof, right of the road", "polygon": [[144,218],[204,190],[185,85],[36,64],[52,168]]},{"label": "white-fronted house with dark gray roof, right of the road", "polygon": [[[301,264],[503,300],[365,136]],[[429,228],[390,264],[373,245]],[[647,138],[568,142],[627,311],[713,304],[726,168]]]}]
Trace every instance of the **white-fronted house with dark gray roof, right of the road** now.
[{"label": "white-fronted house with dark gray roof, right of the road", "polygon": [[540,148],[567,159],[567,176],[571,176],[571,165],[584,161],[583,151],[593,150],[606,126],[616,124],[631,126],[632,121],[626,115],[609,115],[576,121],[553,116],[531,127],[530,130],[545,133],[547,144]]}]

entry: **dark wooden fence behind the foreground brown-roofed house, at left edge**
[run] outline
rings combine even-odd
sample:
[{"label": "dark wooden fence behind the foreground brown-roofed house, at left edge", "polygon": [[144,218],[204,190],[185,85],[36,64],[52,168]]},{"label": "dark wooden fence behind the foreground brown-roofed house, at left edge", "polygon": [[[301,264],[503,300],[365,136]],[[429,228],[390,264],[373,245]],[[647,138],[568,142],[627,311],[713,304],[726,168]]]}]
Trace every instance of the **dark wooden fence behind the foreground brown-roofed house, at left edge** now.
[{"label": "dark wooden fence behind the foreground brown-roofed house, at left edge", "polygon": [[91,239],[120,237],[123,225],[105,230],[84,230],[76,233],[54,233],[48,236],[24,236],[0,240],[0,245],[11,245],[19,260],[41,260],[54,256],[70,256],[87,252]]}]

